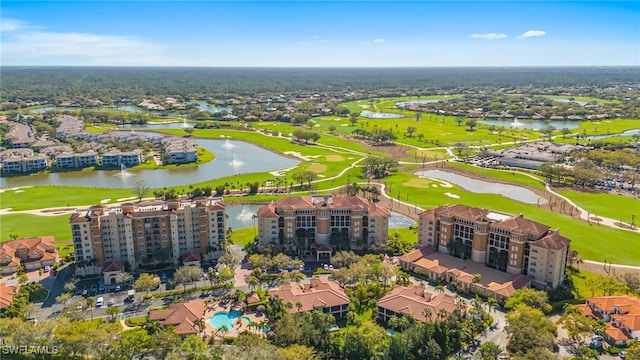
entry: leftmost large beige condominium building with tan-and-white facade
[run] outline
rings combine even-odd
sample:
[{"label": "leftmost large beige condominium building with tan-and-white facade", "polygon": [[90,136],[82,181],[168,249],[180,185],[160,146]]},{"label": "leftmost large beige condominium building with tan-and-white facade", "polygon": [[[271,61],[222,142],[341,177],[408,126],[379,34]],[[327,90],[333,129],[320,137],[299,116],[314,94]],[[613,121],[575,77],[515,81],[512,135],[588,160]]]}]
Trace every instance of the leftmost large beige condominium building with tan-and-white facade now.
[{"label": "leftmost large beige condominium building with tan-and-white facade", "polygon": [[118,207],[92,206],[69,220],[76,263],[102,271],[113,262],[132,269],[145,264],[179,264],[216,259],[224,253],[225,206],[221,199],[157,200]]}]

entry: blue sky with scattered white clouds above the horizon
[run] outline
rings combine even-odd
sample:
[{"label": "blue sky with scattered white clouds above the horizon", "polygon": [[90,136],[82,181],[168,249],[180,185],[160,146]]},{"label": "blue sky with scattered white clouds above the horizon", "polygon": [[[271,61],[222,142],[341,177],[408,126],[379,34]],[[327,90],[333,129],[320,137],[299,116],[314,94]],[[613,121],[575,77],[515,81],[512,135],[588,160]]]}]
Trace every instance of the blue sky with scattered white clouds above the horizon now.
[{"label": "blue sky with scattered white clouds above the horizon", "polygon": [[640,2],[0,3],[2,65],[640,66]]}]

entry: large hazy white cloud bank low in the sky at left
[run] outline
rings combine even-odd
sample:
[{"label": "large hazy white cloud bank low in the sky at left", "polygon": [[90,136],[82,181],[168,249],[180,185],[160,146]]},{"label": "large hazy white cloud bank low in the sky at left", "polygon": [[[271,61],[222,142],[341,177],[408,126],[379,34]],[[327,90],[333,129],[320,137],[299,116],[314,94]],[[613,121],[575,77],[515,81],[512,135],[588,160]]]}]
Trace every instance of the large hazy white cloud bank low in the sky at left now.
[{"label": "large hazy white cloud bank low in the sky at left", "polygon": [[135,37],[89,33],[27,31],[2,41],[5,64],[167,65],[165,47]]}]

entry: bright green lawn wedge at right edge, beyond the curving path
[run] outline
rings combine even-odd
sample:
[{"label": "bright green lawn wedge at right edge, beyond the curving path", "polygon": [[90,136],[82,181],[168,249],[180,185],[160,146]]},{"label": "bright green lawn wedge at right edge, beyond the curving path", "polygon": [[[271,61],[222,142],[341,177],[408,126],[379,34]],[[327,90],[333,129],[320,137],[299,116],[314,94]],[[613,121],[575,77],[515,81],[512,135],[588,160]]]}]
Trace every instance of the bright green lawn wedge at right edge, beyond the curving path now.
[{"label": "bright green lawn wedge at right edge, beyond the curving path", "polygon": [[631,223],[631,215],[636,215],[636,224],[640,224],[640,199],[615,194],[591,194],[573,190],[559,190],[580,207],[593,214]]}]

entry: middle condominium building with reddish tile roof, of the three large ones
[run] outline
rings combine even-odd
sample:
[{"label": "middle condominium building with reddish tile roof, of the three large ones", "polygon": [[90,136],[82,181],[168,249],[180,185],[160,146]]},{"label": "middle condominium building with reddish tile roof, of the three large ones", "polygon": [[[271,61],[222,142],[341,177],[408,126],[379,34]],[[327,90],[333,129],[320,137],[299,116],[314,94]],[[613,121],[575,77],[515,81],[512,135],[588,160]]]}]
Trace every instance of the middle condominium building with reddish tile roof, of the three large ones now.
[{"label": "middle condominium building with reddish tile roof, of the three large ones", "polygon": [[258,210],[258,245],[330,259],[334,249],[383,250],[389,212],[358,196],[313,195],[271,202]]}]

